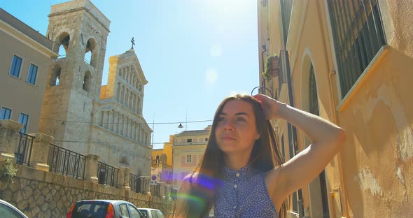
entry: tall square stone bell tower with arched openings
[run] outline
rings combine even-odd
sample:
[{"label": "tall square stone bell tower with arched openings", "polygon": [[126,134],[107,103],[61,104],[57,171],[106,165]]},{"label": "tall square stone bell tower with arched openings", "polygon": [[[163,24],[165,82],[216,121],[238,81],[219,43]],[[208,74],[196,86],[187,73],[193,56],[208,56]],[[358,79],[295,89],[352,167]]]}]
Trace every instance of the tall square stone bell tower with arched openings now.
[{"label": "tall square stone bell tower with arched openings", "polygon": [[83,153],[99,101],[110,21],[89,0],[51,6],[48,17],[46,36],[59,58],[48,73],[40,129],[57,145]]}]

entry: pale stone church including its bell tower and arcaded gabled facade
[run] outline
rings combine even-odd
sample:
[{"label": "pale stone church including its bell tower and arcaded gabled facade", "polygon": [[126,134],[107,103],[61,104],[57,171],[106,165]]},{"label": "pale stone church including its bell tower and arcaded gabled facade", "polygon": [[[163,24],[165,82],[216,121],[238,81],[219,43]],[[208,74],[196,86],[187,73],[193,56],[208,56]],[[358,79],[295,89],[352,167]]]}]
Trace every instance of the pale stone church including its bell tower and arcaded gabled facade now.
[{"label": "pale stone church including its bell tower and arcaded gabled facade", "polygon": [[[137,54],[132,48],[110,57],[108,84],[102,86],[110,20],[89,0],[51,6],[48,17],[44,40],[52,42],[50,61],[39,71],[45,79],[36,80],[43,101],[41,112],[26,112],[39,117],[29,119],[29,131],[35,132],[27,133],[45,133],[67,150],[97,154],[102,163],[149,175],[152,130],[142,115],[148,81]],[[12,99],[2,98],[0,105],[13,105]]]}]

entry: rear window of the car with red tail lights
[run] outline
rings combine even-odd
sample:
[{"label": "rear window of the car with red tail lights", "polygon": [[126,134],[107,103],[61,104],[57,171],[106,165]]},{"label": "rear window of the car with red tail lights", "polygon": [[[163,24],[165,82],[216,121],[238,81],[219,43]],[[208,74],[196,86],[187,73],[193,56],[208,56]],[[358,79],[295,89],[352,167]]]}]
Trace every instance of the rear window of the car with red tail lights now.
[{"label": "rear window of the car with red tail lights", "polygon": [[82,201],[76,203],[73,218],[105,218],[109,203],[103,201]]}]

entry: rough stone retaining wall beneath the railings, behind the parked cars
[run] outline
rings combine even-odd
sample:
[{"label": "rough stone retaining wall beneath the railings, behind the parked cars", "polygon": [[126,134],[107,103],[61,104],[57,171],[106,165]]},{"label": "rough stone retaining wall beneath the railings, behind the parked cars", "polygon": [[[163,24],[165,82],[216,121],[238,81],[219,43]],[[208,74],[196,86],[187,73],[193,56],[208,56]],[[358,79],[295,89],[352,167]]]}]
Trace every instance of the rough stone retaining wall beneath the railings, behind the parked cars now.
[{"label": "rough stone retaining wall beneath the railings, behind the parked cars", "polygon": [[[2,164],[2,163],[1,163]],[[64,175],[15,165],[18,176],[13,183],[0,182],[0,198],[15,205],[28,217],[66,217],[73,203],[86,199],[112,199],[134,203],[138,208],[157,208],[165,216],[174,201],[104,186]]]}]

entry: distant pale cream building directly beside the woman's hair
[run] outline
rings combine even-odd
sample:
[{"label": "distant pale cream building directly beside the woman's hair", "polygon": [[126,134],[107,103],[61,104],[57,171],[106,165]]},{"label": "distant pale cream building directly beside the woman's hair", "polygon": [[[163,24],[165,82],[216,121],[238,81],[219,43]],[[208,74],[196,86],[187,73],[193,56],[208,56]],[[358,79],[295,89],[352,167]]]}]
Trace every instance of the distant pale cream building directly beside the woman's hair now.
[{"label": "distant pale cream building directly beside the woman's hair", "polygon": [[192,173],[201,161],[207,148],[211,126],[202,130],[182,131],[174,135],[172,147],[172,169],[174,189],[179,189],[181,181]]}]

